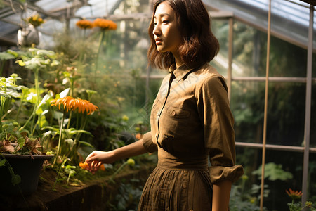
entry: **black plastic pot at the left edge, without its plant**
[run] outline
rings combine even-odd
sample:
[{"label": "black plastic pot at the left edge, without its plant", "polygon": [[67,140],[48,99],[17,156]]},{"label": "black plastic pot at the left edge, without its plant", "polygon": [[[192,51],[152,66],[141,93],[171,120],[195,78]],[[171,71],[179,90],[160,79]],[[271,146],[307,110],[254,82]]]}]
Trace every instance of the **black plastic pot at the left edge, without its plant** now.
[{"label": "black plastic pot at the left edge, without its plant", "polygon": [[2,154],[8,160],[8,163],[13,168],[14,174],[21,177],[21,182],[13,186],[12,176],[8,170],[8,163],[0,167],[0,192],[10,195],[22,194],[27,196],[37,190],[39,183],[39,174],[44,160],[50,160],[54,155],[15,155]]}]

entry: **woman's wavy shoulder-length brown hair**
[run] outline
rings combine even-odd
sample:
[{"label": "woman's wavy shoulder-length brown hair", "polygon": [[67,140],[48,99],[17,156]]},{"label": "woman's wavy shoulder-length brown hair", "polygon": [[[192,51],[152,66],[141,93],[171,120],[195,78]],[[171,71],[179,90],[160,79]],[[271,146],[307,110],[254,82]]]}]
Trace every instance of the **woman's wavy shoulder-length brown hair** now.
[{"label": "woman's wavy shoulder-length brown hair", "polygon": [[159,53],[154,41],[154,13],[157,6],[166,1],[176,12],[183,41],[178,47],[185,65],[194,68],[210,62],[219,51],[218,40],[211,32],[211,20],[201,0],[158,0],[154,3],[152,20],[148,28],[151,45],[147,52],[150,65],[168,69],[175,63],[171,52]]}]

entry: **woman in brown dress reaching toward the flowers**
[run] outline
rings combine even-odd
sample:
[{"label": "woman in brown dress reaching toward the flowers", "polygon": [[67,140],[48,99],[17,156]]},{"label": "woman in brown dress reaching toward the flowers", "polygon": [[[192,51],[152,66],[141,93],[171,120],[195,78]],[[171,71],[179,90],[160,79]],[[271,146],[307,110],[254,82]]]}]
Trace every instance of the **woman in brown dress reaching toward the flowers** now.
[{"label": "woman in brown dress reaching toward the flowers", "polygon": [[[138,210],[228,210],[235,133],[225,79],[209,65],[219,46],[201,0],[158,0],[149,27],[150,64],[169,69],[152,106],[151,132],[114,151],[93,151],[91,172],[158,151]],[[208,169],[208,159],[211,167]]]}]

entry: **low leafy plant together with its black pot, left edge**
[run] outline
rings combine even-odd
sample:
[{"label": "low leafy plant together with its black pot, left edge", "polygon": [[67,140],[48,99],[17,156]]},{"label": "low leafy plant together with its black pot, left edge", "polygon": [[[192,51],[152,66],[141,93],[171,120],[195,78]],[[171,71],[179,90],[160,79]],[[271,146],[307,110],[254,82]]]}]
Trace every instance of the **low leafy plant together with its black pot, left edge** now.
[{"label": "low leafy plant together with its black pot, left edge", "polygon": [[40,151],[39,139],[29,138],[27,132],[19,131],[18,122],[2,125],[0,133],[0,192],[29,195],[36,191],[44,160],[54,155]]}]

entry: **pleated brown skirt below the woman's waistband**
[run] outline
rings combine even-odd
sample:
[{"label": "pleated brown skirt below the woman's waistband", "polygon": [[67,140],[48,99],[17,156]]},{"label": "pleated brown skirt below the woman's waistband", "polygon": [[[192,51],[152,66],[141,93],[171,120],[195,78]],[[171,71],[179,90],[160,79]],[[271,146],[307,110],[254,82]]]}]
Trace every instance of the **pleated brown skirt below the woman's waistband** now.
[{"label": "pleated brown skirt below the woman's waistband", "polygon": [[153,170],[143,189],[138,211],[205,211],[212,207],[209,171]]}]

